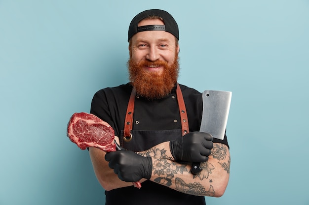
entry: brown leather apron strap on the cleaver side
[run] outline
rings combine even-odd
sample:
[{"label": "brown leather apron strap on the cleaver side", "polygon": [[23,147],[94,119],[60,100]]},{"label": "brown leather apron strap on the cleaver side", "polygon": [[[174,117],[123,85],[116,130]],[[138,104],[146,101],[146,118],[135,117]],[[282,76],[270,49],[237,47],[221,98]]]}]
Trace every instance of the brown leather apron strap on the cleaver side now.
[{"label": "brown leather apron strap on the cleaver side", "polygon": [[184,97],[183,97],[183,94],[178,84],[177,84],[176,94],[177,94],[177,101],[178,101],[178,107],[179,107],[179,113],[180,113],[180,119],[181,119],[182,136],[184,136],[185,134],[189,133],[189,123],[188,123],[188,116],[187,116],[187,110],[185,106]]}]

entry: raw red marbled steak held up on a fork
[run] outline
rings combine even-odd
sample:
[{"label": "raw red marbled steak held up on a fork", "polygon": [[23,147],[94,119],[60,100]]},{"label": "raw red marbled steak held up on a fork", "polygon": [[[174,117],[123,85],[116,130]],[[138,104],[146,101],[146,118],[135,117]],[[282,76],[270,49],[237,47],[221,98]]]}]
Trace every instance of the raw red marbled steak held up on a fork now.
[{"label": "raw red marbled steak held up on a fork", "polygon": [[[114,143],[114,129],[107,122],[89,113],[75,113],[70,118],[67,136],[80,149],[97,147],[103,151],[116,151]],[[135,187],[141,188],[139,181],[133,182]]]}]

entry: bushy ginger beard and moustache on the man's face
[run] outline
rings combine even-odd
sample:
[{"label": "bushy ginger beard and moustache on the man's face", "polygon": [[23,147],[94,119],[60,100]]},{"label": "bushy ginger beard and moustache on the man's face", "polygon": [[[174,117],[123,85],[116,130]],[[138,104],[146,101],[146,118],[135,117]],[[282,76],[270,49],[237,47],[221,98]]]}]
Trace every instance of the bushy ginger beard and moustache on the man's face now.
[{"label": "bushy ginger beard and moustache on the man's face", "polygon": [[[156,60],[141,60],[137,64],[130,58],[127,62],[129,71],[129,80],[136,92],[149,99],[160,99],[168,95],[172,88],[177,83],[179,74],[179,58],[177,51],[175,52],[175,59],[171,65],[166,61]],[[144,70],[143,67],[149,65],[163,66],[163,72],[157,74]]]}]

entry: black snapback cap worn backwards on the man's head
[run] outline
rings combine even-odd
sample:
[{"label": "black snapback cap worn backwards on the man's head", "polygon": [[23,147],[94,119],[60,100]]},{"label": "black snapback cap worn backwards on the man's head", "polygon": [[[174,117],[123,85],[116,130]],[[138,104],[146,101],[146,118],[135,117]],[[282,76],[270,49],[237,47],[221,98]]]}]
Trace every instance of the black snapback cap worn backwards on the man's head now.
[{"label": "black snapback cap worn backwards on the man's head", "polygon": [[[158,16],[161,17],[165,25],[148,25],[138,27],[138,23],[148,16]],[[132,38],[134,34],[146,30],[165,30],[170,32],[179,40],[179,30],[175,19],[168,12],[160,9],[150,9],[137,14],[131,21],[128,32],[128,41]]]}]

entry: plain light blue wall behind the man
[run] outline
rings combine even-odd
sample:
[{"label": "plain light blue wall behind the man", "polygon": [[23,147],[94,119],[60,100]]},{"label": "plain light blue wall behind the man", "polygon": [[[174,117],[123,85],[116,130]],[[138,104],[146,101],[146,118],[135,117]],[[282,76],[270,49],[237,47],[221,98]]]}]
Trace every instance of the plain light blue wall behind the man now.
[{"label": "plain light blue wall behind the man", "polygon": [[208,205],[309,205],[309,0],[0,0],[0,205],[99,205],[66,137],[100,88],[127,82],[140,11],[180,28],[179,82],[233,92],[231,178]]}]

